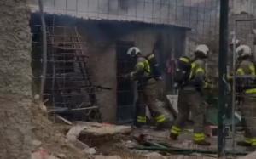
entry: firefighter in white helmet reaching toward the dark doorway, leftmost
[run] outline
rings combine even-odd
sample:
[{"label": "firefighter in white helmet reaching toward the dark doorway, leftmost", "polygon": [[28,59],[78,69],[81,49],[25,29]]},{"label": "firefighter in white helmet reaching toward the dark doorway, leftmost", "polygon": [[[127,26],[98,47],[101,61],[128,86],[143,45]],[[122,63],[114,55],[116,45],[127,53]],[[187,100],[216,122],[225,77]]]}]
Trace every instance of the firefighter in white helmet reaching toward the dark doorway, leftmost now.
[{"label": "firefighter in white helmet reaching toward the dark doorway, leftmost", "polygon": [[129,48],[127,54],[137,62],[134,71],[125,76],[137,81],[137,127],[141,127],[147,122],[146,105],[157,124],[166,122],[166,117],[158,110],[157,91],[154,89],[156,80],[151,74],[148,60],[143,57],[137,47]]}]

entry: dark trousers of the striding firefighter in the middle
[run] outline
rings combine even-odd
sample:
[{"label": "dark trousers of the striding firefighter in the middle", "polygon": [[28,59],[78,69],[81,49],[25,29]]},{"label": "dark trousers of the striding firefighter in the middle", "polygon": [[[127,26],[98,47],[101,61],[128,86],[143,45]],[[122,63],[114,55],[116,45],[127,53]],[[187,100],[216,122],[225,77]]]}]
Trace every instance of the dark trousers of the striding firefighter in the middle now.
[{"label": "dark trousers of the striding firefighter in the middle", "polygon": [[177,129],[177,134],[180,133],[191,111],[194,122],[194,133],[203,133],[205,110],[203,102],[204,100],[200,92],[196,90],[180,90],[177,101],[178,114],[172,127],[173,131],[175,132],[175,129]]}]

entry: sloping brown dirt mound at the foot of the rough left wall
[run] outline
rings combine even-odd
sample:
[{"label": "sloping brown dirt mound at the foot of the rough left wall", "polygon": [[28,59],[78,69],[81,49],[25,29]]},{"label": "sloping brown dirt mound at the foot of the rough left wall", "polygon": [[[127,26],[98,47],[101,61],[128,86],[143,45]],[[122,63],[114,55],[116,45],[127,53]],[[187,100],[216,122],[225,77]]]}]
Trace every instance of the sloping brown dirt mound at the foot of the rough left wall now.
[{"label": "sloping brown dirt mound at the foot of the rough left wall", "polygon": [[43,104],[32,105],[32,159],[89,158],[50,122]]}]

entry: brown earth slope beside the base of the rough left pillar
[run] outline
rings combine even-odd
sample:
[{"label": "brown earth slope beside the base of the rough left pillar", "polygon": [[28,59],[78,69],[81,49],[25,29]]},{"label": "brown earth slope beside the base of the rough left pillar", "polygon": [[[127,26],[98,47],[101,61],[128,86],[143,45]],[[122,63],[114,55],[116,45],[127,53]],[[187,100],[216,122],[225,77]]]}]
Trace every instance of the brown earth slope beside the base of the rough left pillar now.
[{"label": "brown earth slope beside the base of the rough left pillar", "polygon": [[32,105],[32,126],[33,139],[42,142],[39,147],[34,146],[34,150],[43,149],[53,156],[64,154],[67,159],[89,158],[71,145],[65,138],[64,132],[49,121],[43,105]]}]

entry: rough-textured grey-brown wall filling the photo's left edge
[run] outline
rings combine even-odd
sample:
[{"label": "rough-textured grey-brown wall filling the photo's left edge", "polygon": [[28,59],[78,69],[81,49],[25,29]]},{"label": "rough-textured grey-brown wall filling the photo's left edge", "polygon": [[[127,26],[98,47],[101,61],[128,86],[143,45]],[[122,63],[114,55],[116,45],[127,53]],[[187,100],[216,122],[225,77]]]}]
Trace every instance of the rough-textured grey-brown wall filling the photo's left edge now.
[{"label": "rough-textured grey-brown wall filling the photo's left edge", "polygon": [[0,158],[31,152],[31,33],[26,0],[0,1]]}]

